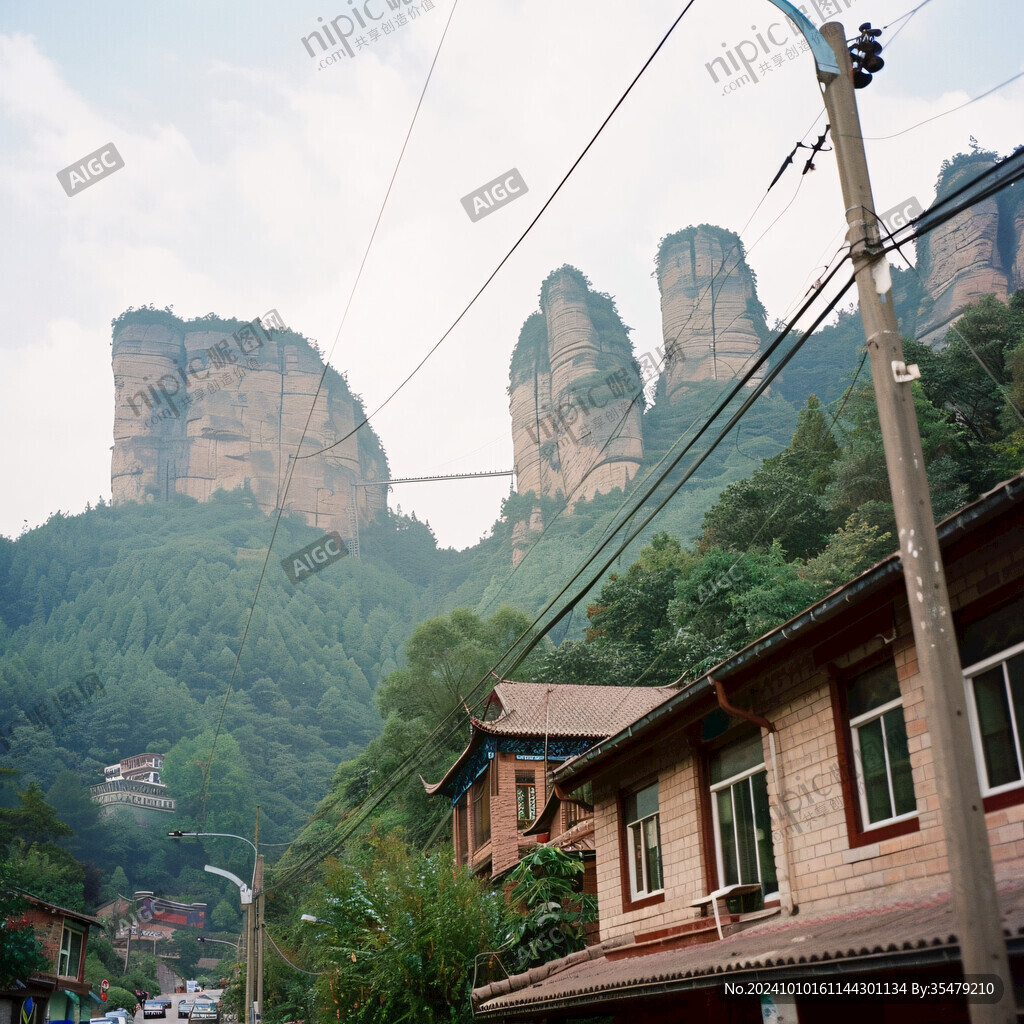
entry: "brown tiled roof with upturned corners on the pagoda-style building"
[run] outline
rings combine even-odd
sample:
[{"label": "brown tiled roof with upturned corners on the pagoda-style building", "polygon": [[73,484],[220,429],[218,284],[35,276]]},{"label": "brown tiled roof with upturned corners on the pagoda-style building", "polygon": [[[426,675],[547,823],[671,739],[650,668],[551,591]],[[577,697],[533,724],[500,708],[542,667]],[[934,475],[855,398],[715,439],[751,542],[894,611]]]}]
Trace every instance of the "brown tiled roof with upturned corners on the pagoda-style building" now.
[{"label": "brown tiled roof with upturned corners on the pagoda-style building", "polygon": [[676,693],[671,686],[592,686],[586,683],[515,683],[494,689],[501,714],[473,720],[496,736],[610,736]]}]

